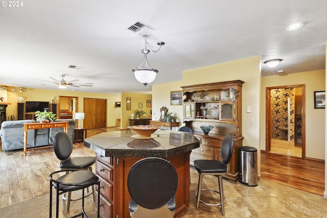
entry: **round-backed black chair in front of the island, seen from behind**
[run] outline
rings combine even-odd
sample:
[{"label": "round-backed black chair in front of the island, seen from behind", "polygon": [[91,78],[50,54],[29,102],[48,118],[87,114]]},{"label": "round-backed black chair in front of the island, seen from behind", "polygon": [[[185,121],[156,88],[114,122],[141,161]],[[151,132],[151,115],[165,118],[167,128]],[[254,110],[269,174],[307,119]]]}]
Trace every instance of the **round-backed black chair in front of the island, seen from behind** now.
[{"label": "round-backed black chair in front of the island, seen from behind", "polygon": [[127,177],[131,217],[174,217],[177,185],[177,172],[169,161],[149,157],[134,163]]}]

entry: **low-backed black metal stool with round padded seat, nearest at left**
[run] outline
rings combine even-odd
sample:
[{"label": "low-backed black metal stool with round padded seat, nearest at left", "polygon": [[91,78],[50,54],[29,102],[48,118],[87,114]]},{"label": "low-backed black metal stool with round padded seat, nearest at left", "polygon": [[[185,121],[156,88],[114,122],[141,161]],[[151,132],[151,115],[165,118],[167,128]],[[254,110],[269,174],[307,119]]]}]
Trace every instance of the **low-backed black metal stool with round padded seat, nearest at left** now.
[{"label": "low-backed black metal stool with round padded seat, nearest at left", "polygon": [[[68,174],[65,174],[58,179],[59,173],[67,173],[67,171],[56,171],[49,175],[50,179],[50,208],[49,208],[49,217],[52,217],[52,187],[56,191],[56,217],[59,216],[59,196],[68,191],[82,190],[82,212],[73,217],[82,216],[88,217],[84,211],[84,188],[89,186],[98,185],[98,190],[100,190],[100,180],[99,178],[90,171],[73,171]],[[55,176],[54,176],[55,175]],[[59,174],[60,175],[60,174]],[[100,195],[98,195],[98,218],[100,217]]]}]

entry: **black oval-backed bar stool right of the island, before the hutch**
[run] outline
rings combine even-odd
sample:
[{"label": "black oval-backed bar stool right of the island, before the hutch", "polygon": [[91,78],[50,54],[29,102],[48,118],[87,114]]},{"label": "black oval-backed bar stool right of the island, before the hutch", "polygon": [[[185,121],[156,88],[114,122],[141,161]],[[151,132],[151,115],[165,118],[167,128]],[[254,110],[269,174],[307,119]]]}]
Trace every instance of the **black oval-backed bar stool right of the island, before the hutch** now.
[{"label": "black oval-backed bar stool right of the island, before the hutch", "polygon": [[[199,183],[198,183],[198,191],[196,192],[197,202],[196,202],[196,210],[199,209],[199,203],[202,202],[205,205],[209,206],[220,206],[222,214],[225,215],[224,209],[224,191],[223,191],[223,179],[222,176],[227,173],[227,166],[231,159],[231,155],[234,149],[234,137],[230,134],[226,135],[221,144],[221,158],[222,161],[219,160],[195,160],[194,166],[199,173]],[[219,191],[215,189],[202,189],[202,179],[204,175],[214,175],[218,176],[219,181]],[[220,193],[220,204],[209,204],[201,201],[201,191],[215,191]]]}]

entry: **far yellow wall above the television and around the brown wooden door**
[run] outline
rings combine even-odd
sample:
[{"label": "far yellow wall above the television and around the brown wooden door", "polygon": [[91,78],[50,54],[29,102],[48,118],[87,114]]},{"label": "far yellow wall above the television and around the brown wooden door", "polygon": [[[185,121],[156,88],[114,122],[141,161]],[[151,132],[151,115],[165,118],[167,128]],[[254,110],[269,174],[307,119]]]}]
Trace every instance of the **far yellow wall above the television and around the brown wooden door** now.
[{"label": "far yellow wall above the television and around the brown wooden door", "polygon": [[8,103],[11,103],[7,107],[7,118],[10,115],[14,115],[17,119],[17,97],[21,96],[24,101],[43,101],[50,102],[51,98],[55,96],[55,101],[58,103],[58,96],[77,96],[78,97],[78,111],[83,112],[83,98],[96,98],[107,99],[107,126],[114,127],[115,120],[120,118],[121,109],[115,108],[114,103],[119,102],[120,95],[116,94],[98,94],[78,91],[64,91],[64,90],[49,90],[49,89],[32,89],[26,88],[24,92],[10,91],[12,87],[8,87]]}]

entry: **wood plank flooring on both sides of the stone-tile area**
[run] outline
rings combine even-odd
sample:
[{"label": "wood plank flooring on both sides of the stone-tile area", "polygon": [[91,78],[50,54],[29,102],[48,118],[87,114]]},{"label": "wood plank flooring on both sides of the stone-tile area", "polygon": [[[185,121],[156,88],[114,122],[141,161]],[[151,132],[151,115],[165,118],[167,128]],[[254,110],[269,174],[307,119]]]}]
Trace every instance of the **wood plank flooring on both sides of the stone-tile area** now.
[{"label": "wood plank flooring on both sides of the stone-tile area", "polygon": [[[87,136],[116,128],[88,130]],[[1,148],[0,148],[1,149]],[[74,143],[73,157],[95,156],[83,142]],[[261,179],[277,182],[323,195],[324,162],[303,160],[262,152]],[[59,161],[52,148],[28,151],[0,152],[0,207],[49,193],[49,174],[59,169]],[[94,169],[95,170],[95,169]]]}]

